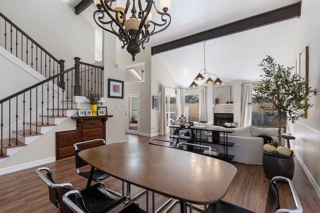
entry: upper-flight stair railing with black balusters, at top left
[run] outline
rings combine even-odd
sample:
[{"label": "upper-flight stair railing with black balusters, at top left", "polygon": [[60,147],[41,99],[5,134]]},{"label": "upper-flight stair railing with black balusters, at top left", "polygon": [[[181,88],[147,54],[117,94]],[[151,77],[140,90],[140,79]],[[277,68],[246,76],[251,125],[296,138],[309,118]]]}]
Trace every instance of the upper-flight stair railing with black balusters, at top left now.
[{"label": "upper-flight stair railing with black balusters, at top left", "polygon": [[57,60],[1,12],[0,46],[45,77],[54,76],[61,65],[61,60]]}]

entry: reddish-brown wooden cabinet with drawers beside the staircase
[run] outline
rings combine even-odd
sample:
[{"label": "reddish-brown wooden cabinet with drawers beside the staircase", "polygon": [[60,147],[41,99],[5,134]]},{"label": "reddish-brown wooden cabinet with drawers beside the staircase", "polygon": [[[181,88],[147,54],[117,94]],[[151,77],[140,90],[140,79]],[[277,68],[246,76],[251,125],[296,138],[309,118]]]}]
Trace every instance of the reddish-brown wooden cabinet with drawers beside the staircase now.
[{"label": "reddish-brown wooden cabinet with drawers beside the staircase", "polygon": [[55,133],[55,158],[61,160],[74,156],[73,144],[97,138],[105,140],[105,123],[113,115],[74,116],[76,129]]}]

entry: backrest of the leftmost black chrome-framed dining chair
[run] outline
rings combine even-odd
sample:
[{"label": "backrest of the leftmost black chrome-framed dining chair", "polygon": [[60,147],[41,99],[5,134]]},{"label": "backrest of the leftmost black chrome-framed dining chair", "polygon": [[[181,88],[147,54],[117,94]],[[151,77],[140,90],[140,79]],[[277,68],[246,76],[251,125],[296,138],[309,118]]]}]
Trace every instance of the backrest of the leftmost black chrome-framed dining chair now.
[{"label": "backrest of the leftmost black chrome-framed dining chair", "polygon": [[[45,171],[44,176],[41,171]],[[60,210],[60,213],[72,213],[72,211],[62,202],[62,196],[73,190],[73,186],[69,183],[55,184],[52,178],[52,173],[49,168],[41,167],[36,169],[35,174],[48,186],[49,200]]]}]

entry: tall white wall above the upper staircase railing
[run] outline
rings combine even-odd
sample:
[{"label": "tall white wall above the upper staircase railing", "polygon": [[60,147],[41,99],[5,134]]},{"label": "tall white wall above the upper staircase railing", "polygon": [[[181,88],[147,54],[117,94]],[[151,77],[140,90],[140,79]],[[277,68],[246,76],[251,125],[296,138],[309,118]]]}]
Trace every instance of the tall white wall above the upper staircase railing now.
[{"label": "tall white wall above the upper staircase railing", "polygon": [[1,0],[0,10],[65,68],[74,65],[73,58],[94,63],[94,28],[74,8],[61,0]]}]

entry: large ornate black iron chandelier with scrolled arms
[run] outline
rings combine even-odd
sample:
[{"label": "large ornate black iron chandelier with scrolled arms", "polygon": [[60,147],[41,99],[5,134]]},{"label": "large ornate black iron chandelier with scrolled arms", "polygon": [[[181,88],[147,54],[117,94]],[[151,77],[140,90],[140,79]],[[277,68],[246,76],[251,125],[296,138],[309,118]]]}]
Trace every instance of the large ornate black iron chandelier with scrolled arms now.
[{"label": "large ornate black iron chandelier with scrolled arms", "polygon": [[[170,22],[171,16],[167,13],[170,7],[170,0],[160,0],[160,7],[162,11],[159,11],[155,7],[153,0],[126,0],[125,8],[120,6],[113,6],[112,2],[116,0],[94,0],[97,10],[93,13],[93,18],[96,24],[102,29],[115,34],[120,41],[123,42],[122,49],[126,47],[126,50],[132,55],[134,61],[135,55],[140,52],[140,45],[144,49],[144,43],[149,41],[151,35],[165,30]],[[142,1],[142,2],[141,2]],[[121,0],[118,0],[121,2]],[[132,7],[129,10],[130,3]],[[151,18],[153,12],[151,7],[161,15],[162,23],[156,23]],[[114,2],[114,4],[117,4]],[[130,17],[127,17],[131,15]],[[106,17],[110,19],[106,20]],[[116,29],[118,27],[118,29]]]}]

